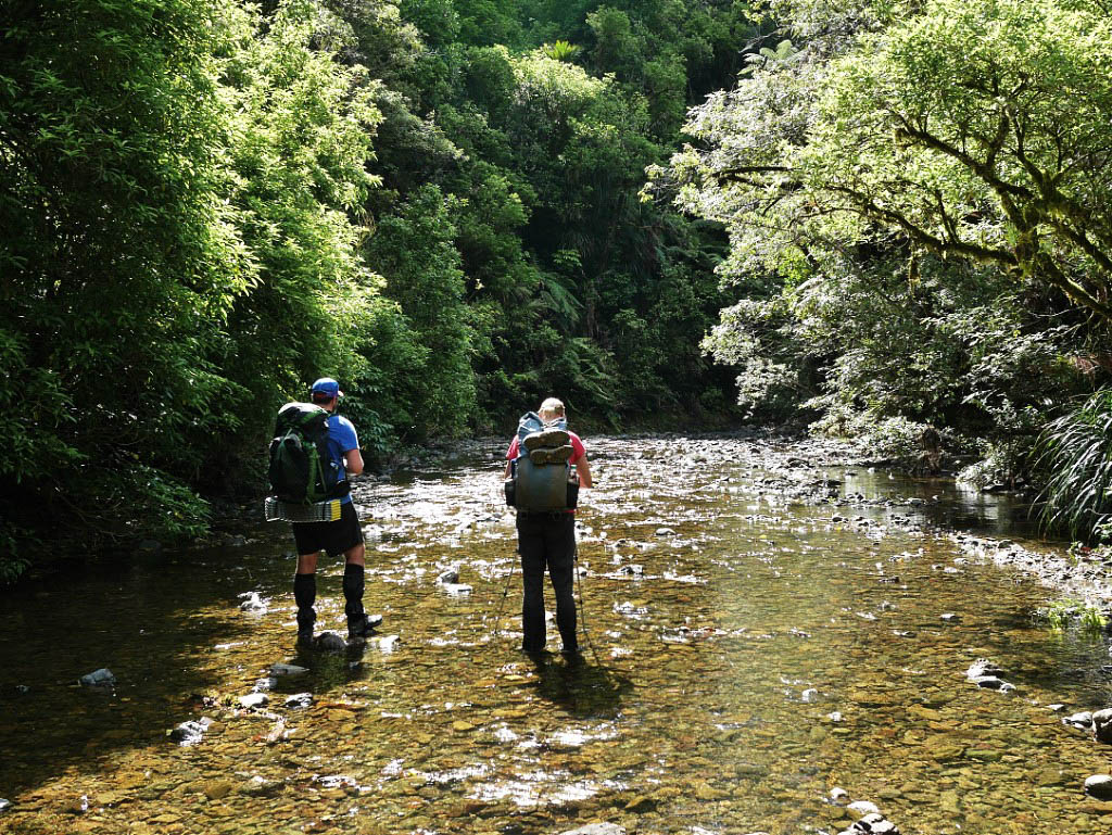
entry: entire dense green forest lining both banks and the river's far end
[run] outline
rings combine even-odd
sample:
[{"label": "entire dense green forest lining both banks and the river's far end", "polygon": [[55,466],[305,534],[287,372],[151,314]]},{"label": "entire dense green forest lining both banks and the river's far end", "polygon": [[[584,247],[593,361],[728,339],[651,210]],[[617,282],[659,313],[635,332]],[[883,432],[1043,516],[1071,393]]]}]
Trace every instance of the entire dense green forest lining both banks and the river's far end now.
[{"label": "entire dense green forest lining both banks and the river's far end", "polygon": [[371,457],[556,392],[937,438],[1099,534],[1110,14],[10,0],[0,573],[199,534],[325,374]]}]

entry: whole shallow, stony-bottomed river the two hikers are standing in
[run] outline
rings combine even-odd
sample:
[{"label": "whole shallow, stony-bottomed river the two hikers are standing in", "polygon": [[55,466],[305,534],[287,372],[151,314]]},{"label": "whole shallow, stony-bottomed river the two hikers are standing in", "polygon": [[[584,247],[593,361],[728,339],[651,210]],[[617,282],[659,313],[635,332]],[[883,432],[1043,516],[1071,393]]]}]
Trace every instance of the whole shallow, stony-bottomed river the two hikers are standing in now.
[{"label": "whole shallow, stony-bottomed river the two hikers are standing in", "polygon": [[[860,813],[834,788],[905,835],[1112,829],[1112,803],[1081,791],[1109,749],[1049,707],[1104,706],[1105,643],[1034,624],[1046,589],[891,524],[1021,539],[1006,506],[796,473],[739,439],[588,448],[578,665],[517,650],[494,443],[357,489],[367,607],[396,644],[295,650],[284,524],[0,598],[0,832],[837,833]],[[896,500],[794,498],[815,477],[833,501]],[[834,520],[858,516],[874,524]],[[318,630],[340,630],[342,565],[321,566]],[[437,581],[450,568],[469,594]],[[240,608],[249,593],[265,612]],[[966,682],[979,657],[1015,690]],[[115,689],[77,684],[99,667]],[[268,704],[239,707],[259,692]],[[167,735],[202,718],[192,744]]]}]

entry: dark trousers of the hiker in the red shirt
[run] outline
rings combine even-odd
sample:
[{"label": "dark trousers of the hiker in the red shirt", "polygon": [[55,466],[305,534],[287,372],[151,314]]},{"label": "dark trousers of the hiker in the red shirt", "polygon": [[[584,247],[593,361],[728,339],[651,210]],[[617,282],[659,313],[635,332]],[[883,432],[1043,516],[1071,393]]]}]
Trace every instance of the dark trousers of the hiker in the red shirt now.
[{"label": "dark trousers of the hiker in the red shirt", "polygon": [[522,604],[522,648],[545,646],[545,568],[556,593],[556,626],[564,649],[577,650],[575,634],[575,515],[568,513],[517,515],[517,545],[525,578]]}]

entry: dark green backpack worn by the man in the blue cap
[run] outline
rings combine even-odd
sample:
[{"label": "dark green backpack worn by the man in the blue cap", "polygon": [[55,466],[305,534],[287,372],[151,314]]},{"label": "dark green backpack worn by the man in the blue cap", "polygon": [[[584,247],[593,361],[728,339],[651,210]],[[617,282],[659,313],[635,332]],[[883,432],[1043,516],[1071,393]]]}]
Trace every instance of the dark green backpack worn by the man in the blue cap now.
[{"label": "dark green backpack worn by the man in the blue cap", "polygon": [[282,501],[310,505],[348,494],[328,456],[328,412],[307,402],[278,410],[270,441],[270,489]]}]

